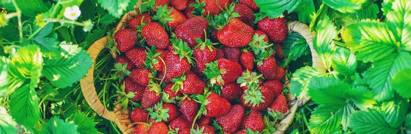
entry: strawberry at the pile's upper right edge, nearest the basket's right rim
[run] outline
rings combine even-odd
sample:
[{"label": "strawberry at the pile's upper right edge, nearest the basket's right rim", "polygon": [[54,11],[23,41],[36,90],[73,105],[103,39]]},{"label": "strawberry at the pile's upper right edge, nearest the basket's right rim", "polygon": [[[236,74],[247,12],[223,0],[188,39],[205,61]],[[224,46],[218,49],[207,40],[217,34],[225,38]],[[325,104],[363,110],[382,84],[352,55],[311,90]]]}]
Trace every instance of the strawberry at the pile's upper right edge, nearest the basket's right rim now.
[{"label": "strawberry at the pile's upper right edge, nearest the basket's right rim", "polygon": [[264,31],[273,42],[284,42],[288,28],[286,18],[263,18],[258,21],[258,29]]}]

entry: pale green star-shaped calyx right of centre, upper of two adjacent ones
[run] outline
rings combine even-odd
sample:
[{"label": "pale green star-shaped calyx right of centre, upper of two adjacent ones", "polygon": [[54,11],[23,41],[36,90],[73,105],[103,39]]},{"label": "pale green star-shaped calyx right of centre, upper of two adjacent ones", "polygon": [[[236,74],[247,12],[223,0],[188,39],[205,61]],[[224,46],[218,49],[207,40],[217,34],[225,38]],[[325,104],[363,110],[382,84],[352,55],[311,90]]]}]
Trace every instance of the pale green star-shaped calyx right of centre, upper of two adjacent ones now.
[{"label": "pale green star-shaped calyx right of centre, upper of two adjacent ones", "polygon": [[242,72],[242,76],[238,77],[237,83],[240,84],[240,87],[243,90],[248,90],[252,86],[260,85],[262,82],[260,79],[264,79],[264,77],[262,77],[262,75],[257,75],[257,72],[245,70],[245,72]]}]

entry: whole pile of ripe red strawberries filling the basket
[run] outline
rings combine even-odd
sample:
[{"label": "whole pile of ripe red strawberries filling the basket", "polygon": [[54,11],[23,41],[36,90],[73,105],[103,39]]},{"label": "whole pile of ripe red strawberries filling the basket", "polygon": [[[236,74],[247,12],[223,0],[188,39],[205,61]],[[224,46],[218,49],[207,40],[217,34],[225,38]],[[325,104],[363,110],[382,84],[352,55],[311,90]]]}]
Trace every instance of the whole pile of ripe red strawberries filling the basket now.
[{"label": "whole pile of ripe red strawberries filling the basket", "polygon": [[275,131],[288,113],[276,62],[285,18],[264,16],[252,0],[143,4],[149,10],[114,34],[134,133]]}]

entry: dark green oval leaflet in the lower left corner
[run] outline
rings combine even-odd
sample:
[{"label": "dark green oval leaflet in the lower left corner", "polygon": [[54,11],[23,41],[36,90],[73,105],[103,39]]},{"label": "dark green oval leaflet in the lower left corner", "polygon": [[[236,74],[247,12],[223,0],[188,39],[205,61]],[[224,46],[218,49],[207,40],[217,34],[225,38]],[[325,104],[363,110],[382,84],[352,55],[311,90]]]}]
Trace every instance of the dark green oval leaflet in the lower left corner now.
[{"label": "dark green oval leaflet in the lower left corner", "polygon": [[10,98],[10,111],[18,124],[31,127],[40,120],[36,90],[29,85],[23,85]]}]

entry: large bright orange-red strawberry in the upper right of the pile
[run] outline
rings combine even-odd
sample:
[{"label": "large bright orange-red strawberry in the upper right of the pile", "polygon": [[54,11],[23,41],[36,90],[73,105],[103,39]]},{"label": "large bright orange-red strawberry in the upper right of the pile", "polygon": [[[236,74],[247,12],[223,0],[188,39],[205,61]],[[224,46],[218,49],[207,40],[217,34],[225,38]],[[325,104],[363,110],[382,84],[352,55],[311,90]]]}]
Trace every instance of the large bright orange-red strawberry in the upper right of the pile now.
[{"label": "large bright orange-red strawberry in the upper right of the pile", "polygon": [[217,33],[217,38],[224,46],[245,46],[253,40],[254,30],[249,25],[242,23],[238,18],[232,18],[223,29]]}]

